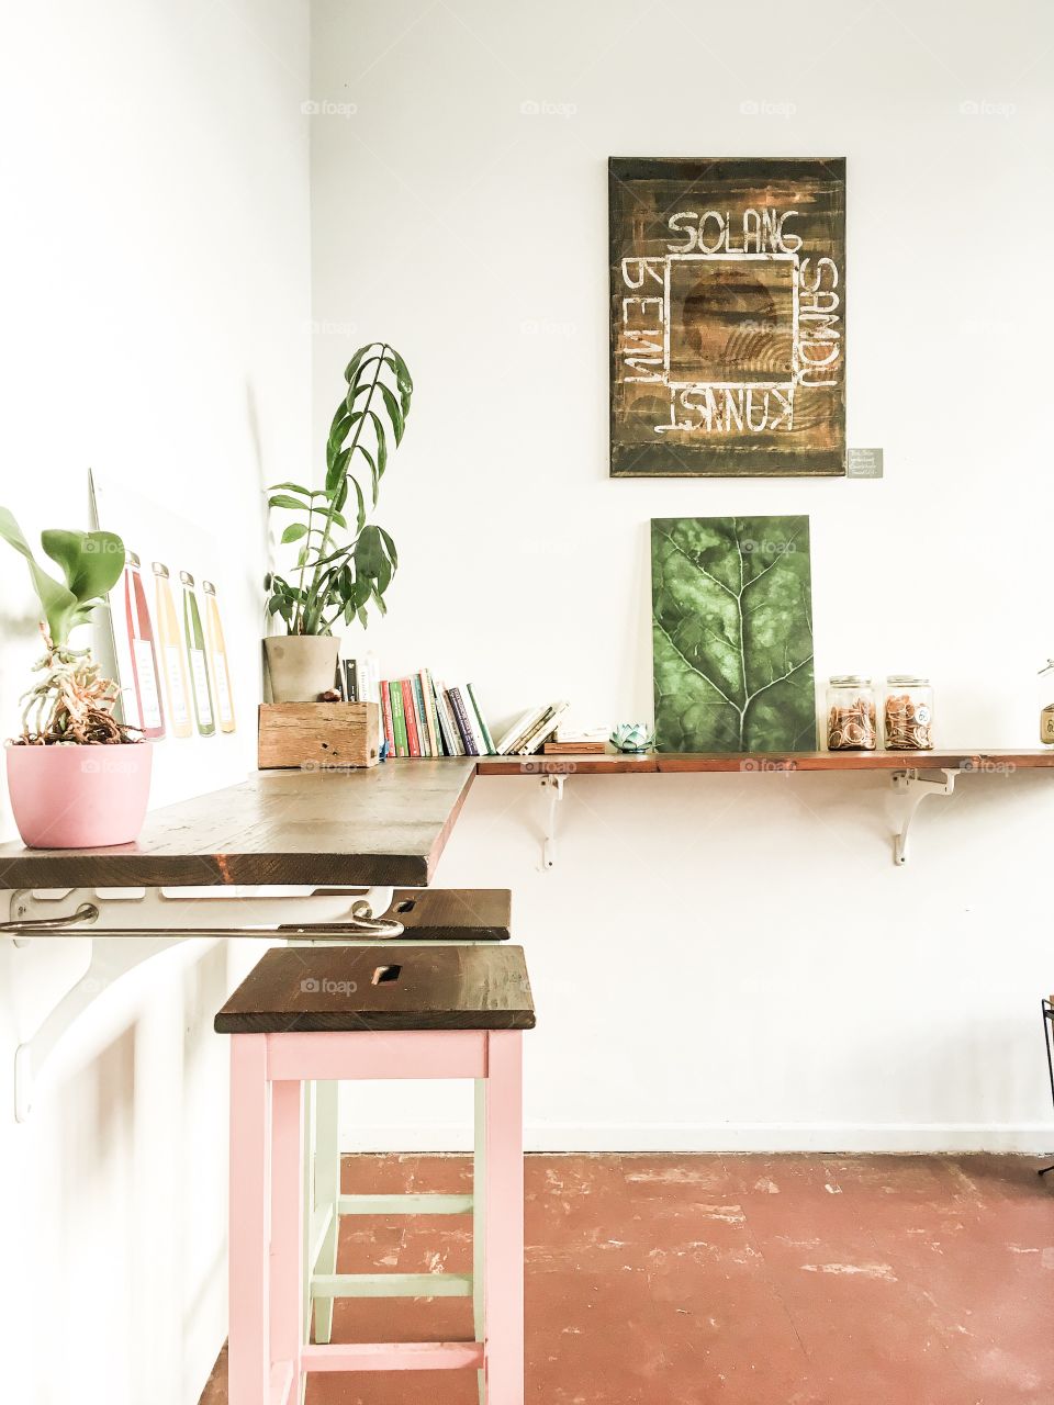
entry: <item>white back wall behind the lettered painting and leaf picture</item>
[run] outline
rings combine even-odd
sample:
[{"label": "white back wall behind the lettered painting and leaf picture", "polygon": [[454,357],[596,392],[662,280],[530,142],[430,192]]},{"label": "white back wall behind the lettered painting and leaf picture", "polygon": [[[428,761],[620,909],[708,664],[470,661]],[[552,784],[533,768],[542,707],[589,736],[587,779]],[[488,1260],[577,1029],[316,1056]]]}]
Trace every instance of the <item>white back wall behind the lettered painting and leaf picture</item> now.
[{"label": "white back wall behind the lettered painting and leaf picture", "polygon": [[[816,674],[926,670],[939,740],[1033,745],[1050,617],[1048,6],[313,7],[315,443],[350,350],[417,391],[379,520],[384,672],[499,722],[651,710],[648,520],[812,520]],[[540,111],[530,114],[524,104]],[[607,476],[610,155],[849,159],[849,443],[884,482]],[[894,870],[864,777],[479,781],[440,881],[510,885],[540,1148],[1054,1142],[1043,776],[928,801]],[[462,1104],[360,1100],[350,1144]]]}]

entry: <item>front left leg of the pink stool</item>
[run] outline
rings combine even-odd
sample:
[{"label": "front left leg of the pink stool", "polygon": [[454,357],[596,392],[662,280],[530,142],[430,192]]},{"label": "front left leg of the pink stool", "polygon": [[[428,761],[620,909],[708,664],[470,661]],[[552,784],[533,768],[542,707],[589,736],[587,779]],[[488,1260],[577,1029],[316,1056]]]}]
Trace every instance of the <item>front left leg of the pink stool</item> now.
[{"label": "front left leg of the pink stool", "polygon": [[270,1392],[270,1094],[267,1037],[235,1034],[230,1040],[229,1405],[261,1405]]}]

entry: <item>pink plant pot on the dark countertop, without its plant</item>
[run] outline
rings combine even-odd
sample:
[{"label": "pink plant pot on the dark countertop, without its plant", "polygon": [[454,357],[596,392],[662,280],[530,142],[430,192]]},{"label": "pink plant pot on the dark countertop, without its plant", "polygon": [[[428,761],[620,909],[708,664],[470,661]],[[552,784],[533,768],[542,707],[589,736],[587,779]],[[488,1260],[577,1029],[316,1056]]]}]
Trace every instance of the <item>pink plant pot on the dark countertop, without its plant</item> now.
[{"label": "pink plant pot on the dark countertop, without its plant", "polygon": [[8,746],[7,791],[31,849],[107,849],[139,836],[150,798],[149,742]]}]

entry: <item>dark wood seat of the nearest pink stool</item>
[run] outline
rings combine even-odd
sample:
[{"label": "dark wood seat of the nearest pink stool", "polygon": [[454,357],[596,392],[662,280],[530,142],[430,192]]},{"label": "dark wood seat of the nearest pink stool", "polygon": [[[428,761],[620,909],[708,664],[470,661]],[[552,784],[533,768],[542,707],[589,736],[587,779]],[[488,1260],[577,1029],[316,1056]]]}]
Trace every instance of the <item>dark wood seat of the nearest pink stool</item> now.
[{"label": "dark wood seat of the nearest pink stool", "polygon": [[216,1014],[219,1034],[533,1030],[523,947],[268,951]]}]

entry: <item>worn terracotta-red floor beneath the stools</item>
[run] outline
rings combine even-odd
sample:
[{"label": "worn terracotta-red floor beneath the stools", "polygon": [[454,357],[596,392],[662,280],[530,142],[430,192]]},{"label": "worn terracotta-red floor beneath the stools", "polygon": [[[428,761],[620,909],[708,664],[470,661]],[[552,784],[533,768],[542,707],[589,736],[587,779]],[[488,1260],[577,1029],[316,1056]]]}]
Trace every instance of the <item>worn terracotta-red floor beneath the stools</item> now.
[{"label": "worn terracotta-red floor beneath the stools", "polygon": [[[528,1156],[528,1405],[1054,1405],[1054,1175],[1016,1156]],[[455,1190],[461,1158],[349,1158]],[[443,1229],[443,1225],[447,1229]],[[471,1272],[468,1220],[341,1225],[341,1272]],[[467,1300],[341,1302],[334,1339],[471,1338]],[[226,1401],[223,1360],[202,1405]],[[476,1405],[458,1371],[308,1405]]]}]

